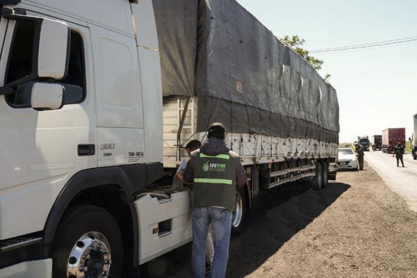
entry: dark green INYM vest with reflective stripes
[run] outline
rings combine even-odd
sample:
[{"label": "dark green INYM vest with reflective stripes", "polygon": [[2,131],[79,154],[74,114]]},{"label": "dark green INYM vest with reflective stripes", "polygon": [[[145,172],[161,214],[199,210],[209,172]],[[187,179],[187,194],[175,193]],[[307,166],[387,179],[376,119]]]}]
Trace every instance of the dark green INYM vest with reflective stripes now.
[{"label": "dark green INYM vest with reflective stripes", "polygon": [[197,152],[193,167],[193,207],[221,206],[233,211],[236,195],[235,160],[228,152],[208,156]]}]

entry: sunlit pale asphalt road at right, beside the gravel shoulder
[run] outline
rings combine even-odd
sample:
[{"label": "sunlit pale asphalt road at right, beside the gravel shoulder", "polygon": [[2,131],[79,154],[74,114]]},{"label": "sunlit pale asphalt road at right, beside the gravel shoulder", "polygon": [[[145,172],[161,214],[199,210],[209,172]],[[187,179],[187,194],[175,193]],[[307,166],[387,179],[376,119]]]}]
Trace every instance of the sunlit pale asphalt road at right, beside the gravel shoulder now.
[{"label": "sunlit pale asphalt road at right, beside the gravel shoulder", "polygon": [[417,161],[411,154],[404,154],[404,166],[397,167],[392,154],[365,152],[365,161],[377,172],[389,189],[397,193],[412,211],[417,211]]}]

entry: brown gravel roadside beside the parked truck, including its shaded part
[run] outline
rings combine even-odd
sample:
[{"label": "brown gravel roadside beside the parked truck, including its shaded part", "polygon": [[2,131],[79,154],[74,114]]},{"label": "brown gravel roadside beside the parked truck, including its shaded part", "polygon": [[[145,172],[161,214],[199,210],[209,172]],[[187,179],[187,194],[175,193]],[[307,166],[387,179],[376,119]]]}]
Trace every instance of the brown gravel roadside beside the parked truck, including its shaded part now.
[{"label": "brown gravel roadside beside the parked truck, including its shaded part", "polygon": [[[272,191],[267,209],[231,239],[227,277],[417,277],[417,213],[365,169],[339,172],[321,191],[307,184]],[[148,267],[191,277],[185,250],[174,253],[180,262]]]}]

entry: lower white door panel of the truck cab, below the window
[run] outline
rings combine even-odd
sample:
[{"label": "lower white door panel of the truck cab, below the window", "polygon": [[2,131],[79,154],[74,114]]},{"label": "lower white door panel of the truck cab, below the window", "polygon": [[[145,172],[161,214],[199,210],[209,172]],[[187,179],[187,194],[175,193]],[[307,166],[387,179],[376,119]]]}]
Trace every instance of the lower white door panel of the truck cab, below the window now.
[{"label": "lower white door panel of the truck cab, below the window", "polygon": [[[96,140],[95,129],[88,127],[85,111],[78,104],[39,112],[12,109],[3,101],[0,115],[0,153],[8,157],[0,160],[0,213],[2,221],[11,217],[7,225],[1,225],[1,240],[42,230],[66,181],[80,170],[97,167],[97,156],[77,154],[78,144]],[[62,176],[65,179],[55,181],[54,177]],[[26,187],[39,193],[26,191]],[[22,192],[10,197],[8,188]],[[28,211],[34,207],[37,212],[32,217]]]}]

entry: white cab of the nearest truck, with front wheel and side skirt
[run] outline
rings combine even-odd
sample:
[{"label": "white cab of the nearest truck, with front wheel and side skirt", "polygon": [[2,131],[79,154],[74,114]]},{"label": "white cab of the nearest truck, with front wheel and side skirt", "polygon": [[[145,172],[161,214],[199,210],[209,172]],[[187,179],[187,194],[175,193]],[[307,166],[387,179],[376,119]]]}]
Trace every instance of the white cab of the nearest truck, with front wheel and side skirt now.
[{"label": "white cab of the nearest truck, with front wheel and side skirt", "polygon": [[190,242],[188,191],[149,189],[163,177],[152,1],[0,3],[0,277],[126,277]]}]

